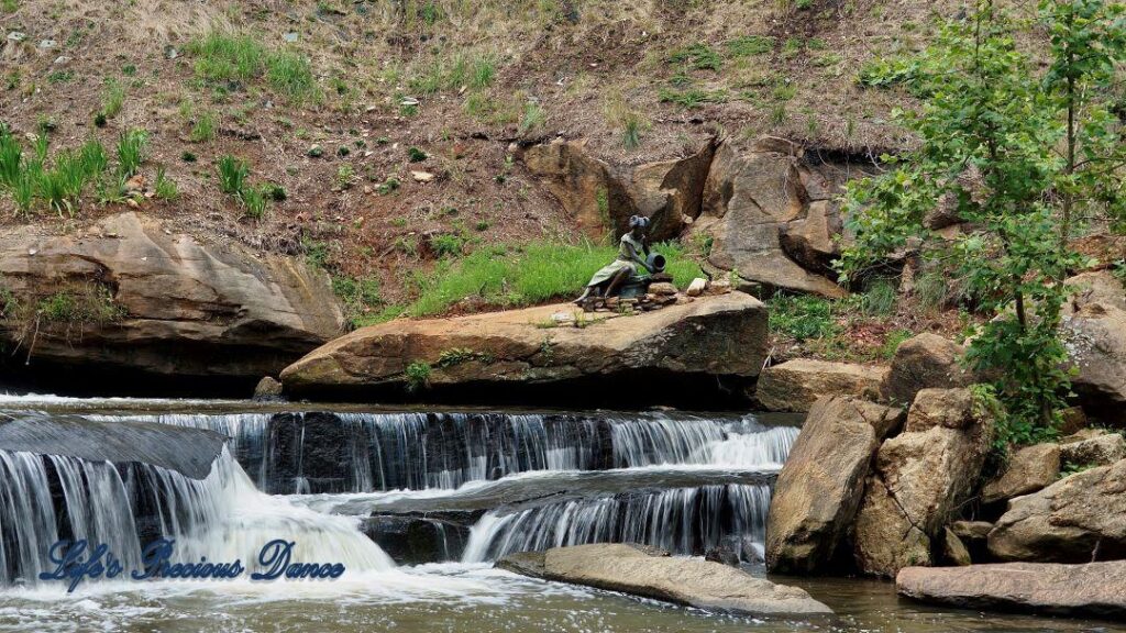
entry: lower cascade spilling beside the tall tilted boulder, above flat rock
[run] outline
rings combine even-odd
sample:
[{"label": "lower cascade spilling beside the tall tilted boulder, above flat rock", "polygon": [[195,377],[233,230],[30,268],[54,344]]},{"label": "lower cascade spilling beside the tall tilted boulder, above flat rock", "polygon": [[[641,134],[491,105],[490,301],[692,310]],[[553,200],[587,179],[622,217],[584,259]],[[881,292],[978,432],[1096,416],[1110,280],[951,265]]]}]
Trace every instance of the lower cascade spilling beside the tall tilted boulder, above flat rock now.
[{"label": "lower cascade spilling beside the tall tilted boulder, above flat rock", "polygon": [[731,544],[740,559],[754,560],[761,558],[769,505],[767,485],[727,484],[492,510],[473,526],[462,560],[587,543],[644,543],[697,555]]}]

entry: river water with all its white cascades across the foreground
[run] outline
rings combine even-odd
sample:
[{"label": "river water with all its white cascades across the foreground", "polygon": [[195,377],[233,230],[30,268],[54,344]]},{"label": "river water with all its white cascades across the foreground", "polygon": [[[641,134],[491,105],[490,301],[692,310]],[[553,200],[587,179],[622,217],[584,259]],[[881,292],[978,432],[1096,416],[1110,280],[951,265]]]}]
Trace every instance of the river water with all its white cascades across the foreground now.
[{"label": "river water with all its white cascades across the foreground", "polygon": [[[0,452],[0,631],[1126,630],[931,608],[863,579],[771,578],[835,615],[736,617],[492,568],[508,552],[642,542],[677,555],[721,549],[763,574],[770,485],[798,433],[793,417],[32,396],[0,399],[0,410],[231,437],[199,481]],[[401,538],[401,521],[429,535],[428,546],[404,553],[418,537]],[[72,594],[34,580],[52,567],[50,543],[72,536],[110,544],[127,567],[142,564],[152,537],[175,538],[177,560],[213,562],[253,561],[284,538],[296,544],[295,561],[347,571],[337,580],[84,581]]]}]

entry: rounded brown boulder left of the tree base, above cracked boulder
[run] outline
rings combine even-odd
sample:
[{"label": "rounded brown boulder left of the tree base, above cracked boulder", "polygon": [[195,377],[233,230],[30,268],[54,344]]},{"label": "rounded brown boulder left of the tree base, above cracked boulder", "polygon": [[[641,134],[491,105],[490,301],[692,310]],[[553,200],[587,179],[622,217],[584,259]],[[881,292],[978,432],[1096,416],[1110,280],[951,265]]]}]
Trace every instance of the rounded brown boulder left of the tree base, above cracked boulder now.
[{"label": "rounded brown boulder left of the tree base, above cracked boulder", "polygon": [[909,403],[919,390],[965,386],[972,382],[958,365],[965,349],[938,335],[910,338],[895,350],[882,394],[893,402]]}]

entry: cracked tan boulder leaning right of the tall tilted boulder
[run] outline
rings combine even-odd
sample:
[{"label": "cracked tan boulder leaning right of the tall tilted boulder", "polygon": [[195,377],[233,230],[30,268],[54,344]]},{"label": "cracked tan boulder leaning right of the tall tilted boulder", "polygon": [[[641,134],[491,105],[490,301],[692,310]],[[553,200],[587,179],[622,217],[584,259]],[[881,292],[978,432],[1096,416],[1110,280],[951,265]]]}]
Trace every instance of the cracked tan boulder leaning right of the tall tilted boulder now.
[{"label": "cracked tan boulder leaning right of the tall tilted boulder", "polygon": [[[876,454],[856,518],[856,563],[866,573],[932,564],[933,540],[981,476],[992,420],[976,419],[972,399],[951,391],[964,390],[920,392],[904,433]],[[960,409],[940,419],[921,414],[938,402]]]}]

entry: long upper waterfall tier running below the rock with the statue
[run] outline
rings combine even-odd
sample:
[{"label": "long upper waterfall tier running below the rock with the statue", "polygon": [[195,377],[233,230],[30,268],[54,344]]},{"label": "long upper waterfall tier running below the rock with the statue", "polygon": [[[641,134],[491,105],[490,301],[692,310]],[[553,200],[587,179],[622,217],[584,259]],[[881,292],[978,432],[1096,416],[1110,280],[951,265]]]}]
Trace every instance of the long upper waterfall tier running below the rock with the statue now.
[{"label": "long upper waterfall tier running below the rock with the statue", "polygon": [[274,494],[456,489],[530,471],[780,467],[796,436],[753,417],[233,413],[99,417],[208,428]]}]

